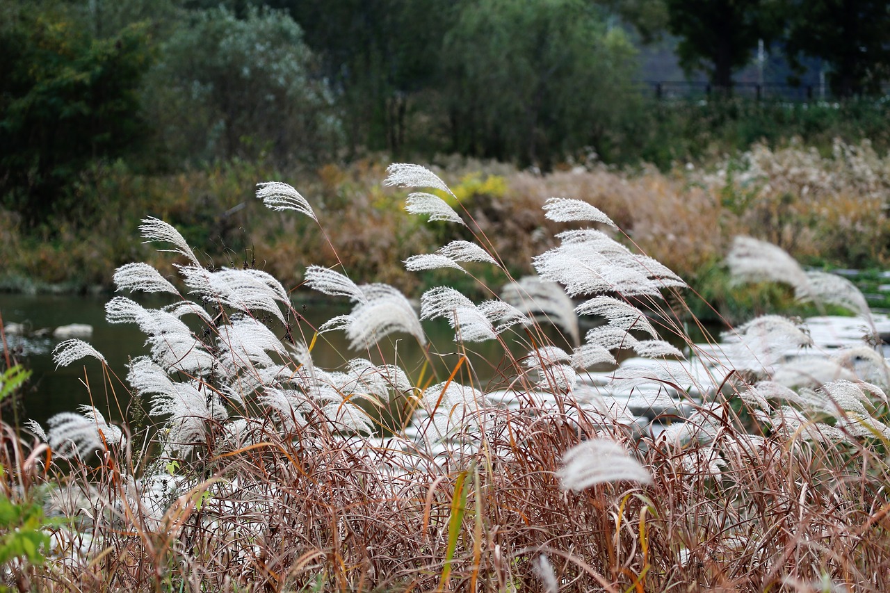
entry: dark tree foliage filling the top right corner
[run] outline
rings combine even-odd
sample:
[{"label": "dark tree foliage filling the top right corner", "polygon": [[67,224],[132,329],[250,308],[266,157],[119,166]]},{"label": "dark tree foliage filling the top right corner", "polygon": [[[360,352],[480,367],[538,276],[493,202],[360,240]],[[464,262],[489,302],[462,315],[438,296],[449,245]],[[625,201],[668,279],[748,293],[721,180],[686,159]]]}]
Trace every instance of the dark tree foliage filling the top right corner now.
[{"label": "dark tree foliage filling the top right corner", "polygon": [[821,58],[837,96],[879,93],[890,77],[890,4],[884,0],[789,2],[786,52],[799,69],[801,54]]}]

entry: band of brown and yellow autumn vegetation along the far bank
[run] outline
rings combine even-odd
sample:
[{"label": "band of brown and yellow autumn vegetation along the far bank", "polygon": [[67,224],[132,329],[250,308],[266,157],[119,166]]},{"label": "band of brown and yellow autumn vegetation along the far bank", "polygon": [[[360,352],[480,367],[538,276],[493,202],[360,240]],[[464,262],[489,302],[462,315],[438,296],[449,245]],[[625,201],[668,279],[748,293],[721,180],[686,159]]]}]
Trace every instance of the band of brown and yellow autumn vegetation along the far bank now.
[{"label": "band of brown and yellow autumn vegetation along the far bank", "polygon": [[[517,277],[530,272],[531,256],[553,245],[556,227],[540,210],[544,200],[574,196],[613,213],[625,244],[683,275],[731,322],[793,305],[789,294],[771,286],[728,286],[720,262],[735,235],[773,242],[819,269],[867,273],[890,261],[890,156],[869,141],[835,141],[821,151],[800,141],[778,149],[755,144],[733,157],[665,172],[587,160],[540,174],[459,157],[433,158],[431,167],[453,188],[454,196],[446,196],[451,205],[459,202],[473,214],[474,230],[493,240]],[[255,266],[299,290],[303,278],[292,263],[312,258],[343,264],[356,281],[390,283],[416,297],[441,272],[409,274],[401,261],[434,249],[445,225],[417,223],[402,206],[405,191],[379,184],[383,172],[379,158],[286,173],[240,160],[176,175],[137,175],[123,163],[103,167],[93,172],[95,183],[81,189],[83,199],[117,208],[101,208],[82,224],[56,219],[53,232],[36,234],[15,215],[0,217],[0,258],[7,262],[0,289],[103,292],[111,272],[136,258],[173,273],[148,246],[129,240],[140,216],[150,214],[182,229],[211,267]],[[328,239],[344,245],[345,255],[336,256],[307,224],[262,212],[245,190],[257,178],[300,184],[326,215]],[[478,295],[478,285],[465,284],[457,288]]]}]

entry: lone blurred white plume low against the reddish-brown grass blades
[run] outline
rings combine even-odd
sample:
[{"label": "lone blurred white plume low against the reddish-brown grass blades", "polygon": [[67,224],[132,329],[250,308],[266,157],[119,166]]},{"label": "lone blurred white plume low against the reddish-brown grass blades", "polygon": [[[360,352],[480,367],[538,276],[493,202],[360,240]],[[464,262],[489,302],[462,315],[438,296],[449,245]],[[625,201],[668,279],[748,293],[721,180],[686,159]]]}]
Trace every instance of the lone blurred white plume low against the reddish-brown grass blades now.
[{"label": "lone blurred white plume low against the reddish-brown grass blades", "polygon": [[619,443],[607,439],[585,441],[566,451],[556,475],[562,489],[572,491],[582,491],[598,483],[652,481],[639,461],[630,457]]}]

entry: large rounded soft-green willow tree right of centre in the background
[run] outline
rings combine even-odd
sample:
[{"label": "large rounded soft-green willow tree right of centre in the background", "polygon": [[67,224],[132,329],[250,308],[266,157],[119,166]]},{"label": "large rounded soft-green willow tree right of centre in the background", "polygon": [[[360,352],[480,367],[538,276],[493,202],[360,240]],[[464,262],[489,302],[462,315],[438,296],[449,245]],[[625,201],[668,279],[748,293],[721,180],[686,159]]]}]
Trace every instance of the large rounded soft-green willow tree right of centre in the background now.
[{"label": "large rounded soft-green willow tree right of centre in the background", "polygon": [[460,4],[443,54],[454,150],[549,167],[601,144],[635,105],[634,56],[590,3]]}]

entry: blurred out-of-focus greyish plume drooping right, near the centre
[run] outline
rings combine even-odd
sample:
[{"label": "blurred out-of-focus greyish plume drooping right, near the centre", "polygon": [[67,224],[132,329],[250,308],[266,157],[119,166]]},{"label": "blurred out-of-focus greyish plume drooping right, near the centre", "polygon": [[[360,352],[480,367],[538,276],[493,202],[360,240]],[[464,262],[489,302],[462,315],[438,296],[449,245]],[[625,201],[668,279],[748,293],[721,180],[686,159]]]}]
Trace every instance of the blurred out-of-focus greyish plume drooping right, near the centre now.
[{"label": "blurred out-of-focus greyish plume drooping right, near the centre", "polygon": [[572,344],[579,344],[581,332],[574,303],[556,282],[537,276],[523,276],[501,288],[501,298],[536,321],[548,321],[569,334]]}]

